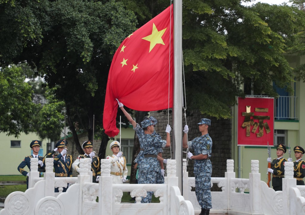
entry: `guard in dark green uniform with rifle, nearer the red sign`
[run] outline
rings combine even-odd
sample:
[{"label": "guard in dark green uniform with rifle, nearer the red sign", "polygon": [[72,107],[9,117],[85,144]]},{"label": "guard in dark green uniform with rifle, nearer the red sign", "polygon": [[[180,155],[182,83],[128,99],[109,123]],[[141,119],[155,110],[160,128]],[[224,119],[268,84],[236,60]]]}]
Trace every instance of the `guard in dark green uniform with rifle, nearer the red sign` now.
[{"label": "guard in dark green uniform with rifle, nearer the red sign", "polygon": [[274,158],[271,162],[271,158],[267,158],[268,162],[271,162],[271,168],[268,168],[268,172],[272,173],[272,187],[275,191],[283,190],[282,179],[285,175],[285,161],[283,158],[286,153],[286,147],[283,144],[276,146],[276,155],[278,158]]}]

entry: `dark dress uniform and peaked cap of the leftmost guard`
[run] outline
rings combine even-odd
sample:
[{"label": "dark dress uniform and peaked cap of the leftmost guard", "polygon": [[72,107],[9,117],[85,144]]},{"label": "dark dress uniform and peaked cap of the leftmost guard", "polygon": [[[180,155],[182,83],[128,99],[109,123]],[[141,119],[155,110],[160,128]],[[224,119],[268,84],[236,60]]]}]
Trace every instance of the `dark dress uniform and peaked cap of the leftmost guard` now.
[{"label": "dark dress uniform and peaked cap of the leftmost guard", "polygon": [[[32,148],[35,145],[39,145],[41,146],[41,141],[39,140],[33,140],[30,143],[30,148]],[[31,171],[31,158],[34,158],[35,156],[30,155],[30,156],[26,156],[23,161],[19,164],[19,166],[17,167],[17,170],[23,174],[24,176],[27,176],[28,172],[26,170],[24,170],[23,168],[25,166],[27,166],[27,168],[29,168],[29,170]],[[44,158],[37,155],[38,160],[44,161]],[[38,164],[38,172],[44,172],[45,171],[45,165],[43,167],[40,167],[40,165]],[[41,177],[41,173],[39,173],[39,177]],[[29,177],[27,177],[27,188],[29,188]]]}]

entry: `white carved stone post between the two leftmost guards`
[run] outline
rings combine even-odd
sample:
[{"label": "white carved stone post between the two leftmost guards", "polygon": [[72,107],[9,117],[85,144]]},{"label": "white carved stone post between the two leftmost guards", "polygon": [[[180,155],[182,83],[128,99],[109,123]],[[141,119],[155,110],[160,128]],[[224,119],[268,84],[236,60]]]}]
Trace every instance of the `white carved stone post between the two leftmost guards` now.
[{"label": "white carved stone post between the two leftmost guards", "polygon": [[45,159],[45,196],[54,197],[55,173],[53,172],[53,158]]}]

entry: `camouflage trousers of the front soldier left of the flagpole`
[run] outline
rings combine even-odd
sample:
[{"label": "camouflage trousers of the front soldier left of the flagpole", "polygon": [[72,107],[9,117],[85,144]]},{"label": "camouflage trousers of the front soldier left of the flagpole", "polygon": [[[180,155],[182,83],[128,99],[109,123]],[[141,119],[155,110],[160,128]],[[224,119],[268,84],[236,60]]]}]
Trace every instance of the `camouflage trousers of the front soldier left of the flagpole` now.
[{"label": "camouflage trousers of the front soldier left of the flagpole", "polygon": [[[138,183],[139,184],[156,184],[157,174],[158,174],[158,172],[156,172],[156,171],[139,170]],[[141,177],[139,177],[139,176],[141,176]],[[153,193],[154,192],[151,192],[151,191],[147,192],[146,197],[142,197],[141,203],[150,203],[152,200]]]}]

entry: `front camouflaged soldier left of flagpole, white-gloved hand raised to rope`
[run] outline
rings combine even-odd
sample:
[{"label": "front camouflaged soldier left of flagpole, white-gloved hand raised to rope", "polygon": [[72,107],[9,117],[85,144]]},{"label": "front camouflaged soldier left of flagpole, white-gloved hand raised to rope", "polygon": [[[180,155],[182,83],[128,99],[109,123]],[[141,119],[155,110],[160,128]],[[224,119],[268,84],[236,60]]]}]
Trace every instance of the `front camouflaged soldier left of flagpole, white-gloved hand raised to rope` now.
[{"label": "front camouflaged soldier left of flagpole, white-gloved hand raised to rope", "polygon": [[[144,130],[144,136],[142,138],[144,151],[144,158],[141,162],[141,168],[139,169],[139,174],[141,175],[140,184],[156,184],[157,174],[160,174],[160,165],[157,160],[158,152],[160,148],[170,146],[170,126],[167,125],[166,132],[167,137],[165,140],[160,140],[157,135],[153,134],[154,127],[151,120],[143,120],[141,122],[142,128]],[[147,192],[146,197],[142,197],[141,203],[150,203],[152,199],[153,192]]]}]

